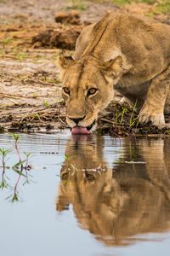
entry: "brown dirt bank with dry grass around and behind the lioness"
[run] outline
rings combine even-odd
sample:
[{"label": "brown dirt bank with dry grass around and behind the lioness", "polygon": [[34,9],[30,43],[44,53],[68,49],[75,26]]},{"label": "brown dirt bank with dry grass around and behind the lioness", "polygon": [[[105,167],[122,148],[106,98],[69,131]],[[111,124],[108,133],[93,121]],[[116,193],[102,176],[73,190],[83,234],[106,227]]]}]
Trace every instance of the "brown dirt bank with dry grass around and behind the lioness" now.
[{"label": "brown dirt bank with dry grass around and behind the lioness", "polygon": [[[144,2],[120,5],[117,0],[116,3],[0,0],[0,131],[66,128],[65,105],[55,65],[59,50],[74,49],[82,27],[109,11],[147,16],[170,24],[166,12],[155,11],[156,1]],[[126,104],[112,102],[100,115],[98,132],[114,136],[151,133],[169,136],[167,128],[139,126],[136,116]]]}]

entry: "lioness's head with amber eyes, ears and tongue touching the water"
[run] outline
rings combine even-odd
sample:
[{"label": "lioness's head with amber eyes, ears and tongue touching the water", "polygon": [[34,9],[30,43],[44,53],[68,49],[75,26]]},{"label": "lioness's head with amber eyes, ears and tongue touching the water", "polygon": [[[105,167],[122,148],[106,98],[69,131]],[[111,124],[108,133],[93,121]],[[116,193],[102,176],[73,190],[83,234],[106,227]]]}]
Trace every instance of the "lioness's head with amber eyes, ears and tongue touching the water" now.
[{"label": "lioness's head with amber eyes, ears and tongue touching the water", "polygon": [[100,110],[113,98],[113,84],[122,74],[122,57],[102,62],[92,55],[74,61],[59,55],[66,121],[73,134],[89,134]]}]

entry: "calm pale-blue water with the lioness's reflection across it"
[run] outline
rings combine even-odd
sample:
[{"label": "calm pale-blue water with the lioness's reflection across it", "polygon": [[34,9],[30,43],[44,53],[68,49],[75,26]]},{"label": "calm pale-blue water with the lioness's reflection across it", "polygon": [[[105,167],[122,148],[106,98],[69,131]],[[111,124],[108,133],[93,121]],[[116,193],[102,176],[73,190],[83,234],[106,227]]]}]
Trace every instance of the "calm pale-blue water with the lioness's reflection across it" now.
[{"label": "calm pale-blue water with the lioness's reflection across it", "polygon": [[169,138],[20,134],[26,176],[0,148],[1,255],[169,255]]}]

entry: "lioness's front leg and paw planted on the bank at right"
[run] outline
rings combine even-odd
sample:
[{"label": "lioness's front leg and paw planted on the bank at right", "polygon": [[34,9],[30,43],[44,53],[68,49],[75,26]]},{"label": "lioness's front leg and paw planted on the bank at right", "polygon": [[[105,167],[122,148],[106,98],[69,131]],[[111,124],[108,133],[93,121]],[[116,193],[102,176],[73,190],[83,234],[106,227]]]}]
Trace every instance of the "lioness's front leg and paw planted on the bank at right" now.
[{"label": "lioness's front leg and paw planted on the bank at right", "polygon": [[139,112],[139,122],[151,121],[153,125],[165,125],[164,106],[170,89],[170,67],[152,79],[143,107]]}]

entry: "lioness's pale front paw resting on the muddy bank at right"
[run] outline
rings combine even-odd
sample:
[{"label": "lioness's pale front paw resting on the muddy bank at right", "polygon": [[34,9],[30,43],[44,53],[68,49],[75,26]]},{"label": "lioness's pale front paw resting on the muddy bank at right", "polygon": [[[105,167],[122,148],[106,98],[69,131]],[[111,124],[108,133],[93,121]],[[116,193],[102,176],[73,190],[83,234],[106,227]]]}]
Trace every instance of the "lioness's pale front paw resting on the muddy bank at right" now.
[{"label": "lioness's pale front paw resting on the muddy bank at right", "polygon": [[164,115],[161,113],[158,114],[150,114],[150,113],[139,113],[139,123],[149,123],[151,122],[153,125],[156,126],[163,126],[165,125],[165,118]]}]

